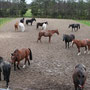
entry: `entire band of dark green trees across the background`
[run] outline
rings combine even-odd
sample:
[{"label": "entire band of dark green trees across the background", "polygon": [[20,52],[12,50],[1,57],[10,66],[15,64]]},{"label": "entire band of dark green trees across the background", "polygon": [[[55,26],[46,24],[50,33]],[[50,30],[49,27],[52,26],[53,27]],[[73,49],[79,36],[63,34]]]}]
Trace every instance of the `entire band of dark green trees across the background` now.
[{"label": "entire band of dark green trees across the background", "polygon": [[0,0],[0,17],[23,16],[31,9],[32,17],[90,19],[90,0]]}]

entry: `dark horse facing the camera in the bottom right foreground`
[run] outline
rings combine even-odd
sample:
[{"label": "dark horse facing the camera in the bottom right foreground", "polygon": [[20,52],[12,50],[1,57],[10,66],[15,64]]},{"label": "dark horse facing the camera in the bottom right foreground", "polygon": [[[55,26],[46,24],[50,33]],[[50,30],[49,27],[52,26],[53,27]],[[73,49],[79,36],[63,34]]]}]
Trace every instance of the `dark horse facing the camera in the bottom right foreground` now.
[{"label": "dark horse facing the camera in the bottom right foreground", "polygon": [[76,65],[72,78],[75,90],[83,90],[86,81],[86,67],[83,64]]}]

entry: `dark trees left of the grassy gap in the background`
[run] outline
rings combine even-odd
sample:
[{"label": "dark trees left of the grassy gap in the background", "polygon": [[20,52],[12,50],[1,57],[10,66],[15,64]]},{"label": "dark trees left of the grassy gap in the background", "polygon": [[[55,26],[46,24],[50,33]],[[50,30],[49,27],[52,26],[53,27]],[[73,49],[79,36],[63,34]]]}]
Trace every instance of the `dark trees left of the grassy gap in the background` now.
[{"label": "dark trees left of the grassy gap in the background", "polygon": [[26,11],[25,0],[0,0],[0,17],[23,16]]}]

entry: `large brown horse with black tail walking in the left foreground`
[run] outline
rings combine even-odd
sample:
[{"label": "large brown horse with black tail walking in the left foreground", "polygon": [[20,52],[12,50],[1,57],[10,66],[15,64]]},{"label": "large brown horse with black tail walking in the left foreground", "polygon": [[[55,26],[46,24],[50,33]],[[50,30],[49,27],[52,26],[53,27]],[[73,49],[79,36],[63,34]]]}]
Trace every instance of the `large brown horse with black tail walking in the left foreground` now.
[{"label": "large brown horse with black tail walking in the left foreground", "polygon": [[31,49],[29,49],[29,48],[28,49],[22,48],[21,50],[16,49],[11,54],[11,60],[12,60],[12,63],[14,63],[14,70],[16,70],[16,62],[17,62],[17,68],[20,69],[19,68],[20,61],[23,60],[24,58],[25,58],[25,62],[24,62],[23,68],[25,67],[27,61],[28,61],[28,65],[30,65],[28,56],[29,56],[30,60],[32,60]]}]

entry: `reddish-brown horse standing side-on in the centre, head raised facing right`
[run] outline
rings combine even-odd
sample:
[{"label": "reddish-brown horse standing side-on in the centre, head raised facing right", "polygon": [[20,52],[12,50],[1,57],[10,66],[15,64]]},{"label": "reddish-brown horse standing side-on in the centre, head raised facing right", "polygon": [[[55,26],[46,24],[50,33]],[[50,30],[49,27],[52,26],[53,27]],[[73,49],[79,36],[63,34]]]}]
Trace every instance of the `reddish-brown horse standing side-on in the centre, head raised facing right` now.
[{"label": "reddish-brown horse standing side-on in the centre, head raised facing right", "polygon": [[[52,35],[56,33],[57,35],[59,35],[59,31],[58,30],[43,30],[43,31],[40,31],[39,34],[38,34],[38,40],[40,40],[41,42],[41,37],[44,36],[44,37],[49,37],[49,43],[51,42],[51,37]],[[37,42],[38,42],[37,40]]]}]

